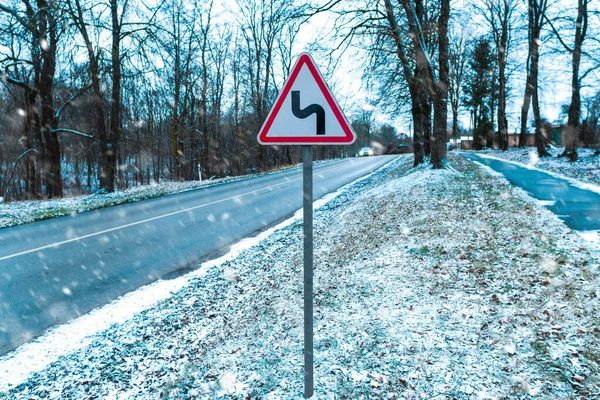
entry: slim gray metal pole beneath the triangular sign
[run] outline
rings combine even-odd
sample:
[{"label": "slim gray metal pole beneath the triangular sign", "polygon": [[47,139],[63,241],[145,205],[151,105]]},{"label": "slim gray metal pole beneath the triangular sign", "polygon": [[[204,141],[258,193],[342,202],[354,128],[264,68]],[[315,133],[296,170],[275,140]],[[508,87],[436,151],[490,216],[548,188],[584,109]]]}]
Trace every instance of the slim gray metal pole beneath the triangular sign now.
[{"label": "slim gray metal pole beneath the triangular sign", "polygon": [[313,378],[313,229],[312,146],[302,146],[304,172],[304,396],[314,393]]}]

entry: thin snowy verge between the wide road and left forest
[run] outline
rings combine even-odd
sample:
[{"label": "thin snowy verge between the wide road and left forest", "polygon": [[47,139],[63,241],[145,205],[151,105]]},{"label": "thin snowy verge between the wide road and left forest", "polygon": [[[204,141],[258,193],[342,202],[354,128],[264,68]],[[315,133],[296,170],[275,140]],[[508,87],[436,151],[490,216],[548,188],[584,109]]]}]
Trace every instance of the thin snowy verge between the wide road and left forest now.
[{"label": "thin snowy verge between the wide road and left forest", "polygon": [[33,221],[73,215],[98,208],[115,206],[123,203],[132,203],[145,199],[165,196],[205,188],[227,182],[253,178],[269,173],[281,172],[298,166],[280,169],[274,172],[260,174],[226,177],[214,180],[187,181],[187,182],[161,182],[153,185],[137,186],[131,189],[114,193],[96,193],[91,195],[68,197],[56,200],[33,200],[3,203],[0,197],[0,228],[26,224]]}]

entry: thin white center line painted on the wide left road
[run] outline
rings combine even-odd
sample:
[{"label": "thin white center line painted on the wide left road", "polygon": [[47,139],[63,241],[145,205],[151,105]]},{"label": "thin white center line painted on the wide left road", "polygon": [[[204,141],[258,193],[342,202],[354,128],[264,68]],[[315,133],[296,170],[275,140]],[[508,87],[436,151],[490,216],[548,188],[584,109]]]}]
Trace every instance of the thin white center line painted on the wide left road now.
[{"label": "thin white center line painted on the wide left road", "polygon": [[[338,167],[333,167],[333,168],[326,169],[324,171],[321,171],[320,173],[330,172],[330,171],[334,171],[336,169],[340,169],[340,168],[344,168],[344,167],[347,167],[346,163],[344,163],[344,165],[341,165],[341,166],[338,166]],[[136,226],[136,225],[140,225],[140,224],[145,224],[147,222],[156,221],[158,219],[172,217],[173,215],[182,214],[182,213],[189,212],[189,211],[192,211],[192,210],[197,210],[199,208],[208,207],[208,206],[211,206],[213,204],[223,203],[223,202],[226,202],[226,201],[229,201],[229,200],[239,200],[241,197],[248,196],[248,195],[254,194],[254,193],[258,193],[258,192],[260,192],[262,190],[265,190],[265,189],[272,189],[272,188],[276,188],[278,186],[287,185],[288,183],[291,183],[291,182],[294,182],[294,181],[298,181],[300,179],[302,179],[302,177],[290,179],[290,180],[287,180],[285,182],[277,183],[277,184],[271,185],[271,186],[261,187],[259,189],[251,190],[249,192],[238,194],[238,195],[231,196],[231,197],[227,197],[227,198],[224,198],[224,199],[211,201],[209,203],[200,204],[200,205],[197,205],[197,206],[194,206],[194,207],[186,208],[184,210],[173,211],[173,212],[170,212],[170,213],[167,213],[167,214],[158,215],[156,217],[147,218],[147,219],[144,219],[144,220],[141,220],[141,221],[131,222],[129,224],[116,226],[116,227],[110,228],[110,229],[105,229],[103,231],[94,232],[94,233],[90,233],[90,234],[83,235],[83,236],[77,236],[77,237],[74,237],[72,239],[63,240],[61,242],[55,242],[55,243],[51,243],[51,244],[48,244],[48,245],[45,245],[45,246],[36,247],[35,249],[30,249],[30,250],[21,251],[19,253],[10,254],[10,255],[7,255],[7,256],[0,257],[0,261],[9,260],[11,258],[23,256],[25,254],[35,253],[35,252],[41,251],[41,250],[46,250],[46,249],[50,249],[50,248],[56,248],[56,247],[61,246],[63,244],[77,242],[77,241],[80,241],[80,240],[83,240],[83,239],[88,239],[88,238],[91,238],[91,237],[94,237],[94,236],[103,235],[105,233],[114,232],[114,231],[118,231],[118,230],[121,230],[121,229],[129,228],[129,227],[132,227],[132,226]]]}]

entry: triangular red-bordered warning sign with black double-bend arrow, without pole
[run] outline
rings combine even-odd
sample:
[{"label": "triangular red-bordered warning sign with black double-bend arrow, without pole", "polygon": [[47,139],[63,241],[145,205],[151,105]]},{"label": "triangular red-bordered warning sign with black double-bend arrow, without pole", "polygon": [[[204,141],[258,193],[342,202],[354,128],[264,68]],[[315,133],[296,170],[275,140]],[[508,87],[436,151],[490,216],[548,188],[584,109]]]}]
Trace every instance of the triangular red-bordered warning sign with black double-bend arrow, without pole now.
[{"label": "triangular red-bordered warning sign with black double-bend arrow, without pole", "polygon": [[352,144],[356,135],[307,53],[300,55],[258,134],[260,144]]}]

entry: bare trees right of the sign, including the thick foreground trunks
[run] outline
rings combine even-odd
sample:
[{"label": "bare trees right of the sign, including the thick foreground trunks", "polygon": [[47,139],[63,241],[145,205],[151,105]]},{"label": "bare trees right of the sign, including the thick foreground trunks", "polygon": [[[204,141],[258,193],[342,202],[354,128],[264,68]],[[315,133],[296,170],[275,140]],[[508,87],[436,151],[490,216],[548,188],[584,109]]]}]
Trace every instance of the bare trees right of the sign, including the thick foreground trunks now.
[{"label": "bare trees right of the sign, including the thick foreground trunks", "polygon": [[415,164],[430,160],[440,166],[444,150],[436,146],[447,142],[447,133],[454,139],[460,136],[460,116],[466,112],[471,114],[474,149],[507,150],[508,109],[519,101],[516,88],[521,87],[519,146],[527,143],[532,116],[538,154],[548,156],[551,125],[540,99],[542,48],[552,57],[547,65],[560,64],[571,77],[561,156],[575,161],[578,145],[598,140],[597,92],[588,90],[587,115],[582,117],[582,88],[594,87],[600,66],[598,41],[590,36],[590,30],[600,26],[597,4],[589,0],[333,3],[339,41],[370,55],[365,78],[378,88],[379,104],[391,113],[410,113]]}]

